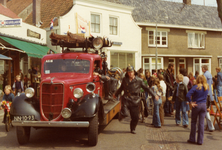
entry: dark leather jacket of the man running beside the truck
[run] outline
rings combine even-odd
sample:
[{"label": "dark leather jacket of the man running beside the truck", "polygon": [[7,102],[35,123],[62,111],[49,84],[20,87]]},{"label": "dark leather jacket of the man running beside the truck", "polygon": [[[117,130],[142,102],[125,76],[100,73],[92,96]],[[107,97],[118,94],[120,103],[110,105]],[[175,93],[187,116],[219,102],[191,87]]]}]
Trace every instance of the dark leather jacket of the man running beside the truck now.
[{"label": "dark leather jacket of the man running beside the truck", "polygon": [[[153,91],[145,85],[143,80],[137,76],[130,82],[129,77],[126,76],[122,80],[120,88],[116,91],[116,96],[118,96],[122,91],[124,91],[123,98],[138,103],[140,101],[140,90],[148,92],[151,96],[155,97]],[[161,96],[161,95],[160,95]]]}]

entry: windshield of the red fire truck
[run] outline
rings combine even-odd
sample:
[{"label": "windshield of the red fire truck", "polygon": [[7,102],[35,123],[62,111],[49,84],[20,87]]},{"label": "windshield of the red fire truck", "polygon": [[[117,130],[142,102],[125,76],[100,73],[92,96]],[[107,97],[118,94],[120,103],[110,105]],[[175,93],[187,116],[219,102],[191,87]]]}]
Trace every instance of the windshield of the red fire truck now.
[{"label": "windshield of the red fire truck", "polygon": [[44,73],[89,73],[90,61],[83,59],[56,59],[44,62]]}]

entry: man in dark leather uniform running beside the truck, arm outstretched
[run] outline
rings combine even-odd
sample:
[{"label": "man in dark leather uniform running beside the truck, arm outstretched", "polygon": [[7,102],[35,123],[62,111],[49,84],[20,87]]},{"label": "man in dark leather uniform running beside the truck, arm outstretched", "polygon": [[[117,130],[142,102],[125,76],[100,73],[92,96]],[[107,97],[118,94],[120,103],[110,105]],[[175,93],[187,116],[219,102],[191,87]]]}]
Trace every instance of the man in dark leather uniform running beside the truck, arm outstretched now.
[{"label": "man in dark leather uniform running beside the truck, arm outstretched", "polygon": [[122,91],[124,91],[121,101],[119,121],[124,117],[127,117],[126,109],[128,109],[131,116],[130,130],[133,134],[136,134],[135,129],[139,120],[139,103],[141,100],[139,93],[141,88],[148,92],[152,97],[155,97],[156,100],[159,100],[159,96],[161,95],[155,95],[152,90],[144,84],[143,80],[136,76],[133,66],[128,66],[122,84],[116,91],[114,97],[117,97]]}]

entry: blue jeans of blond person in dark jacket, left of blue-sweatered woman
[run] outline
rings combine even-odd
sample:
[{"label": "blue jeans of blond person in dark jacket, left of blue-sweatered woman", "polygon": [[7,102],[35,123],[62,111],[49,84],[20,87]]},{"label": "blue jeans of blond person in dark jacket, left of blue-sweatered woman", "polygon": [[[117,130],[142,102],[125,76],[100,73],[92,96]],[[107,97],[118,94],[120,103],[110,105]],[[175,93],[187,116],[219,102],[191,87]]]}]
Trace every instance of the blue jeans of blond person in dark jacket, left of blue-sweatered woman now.
[{"label": "blue jeans of blond person in dark jacket, left of blue-sweatered woman", "polygon": [[175,121],[176,124],[180,124],[181,122],[181,115],[180,110],[182,111],[182,118],[183,118],[183,125],[188,125],[188,115],[187,115],[187,101],[179,101],[178,98],[176,98],[176,117]]}]

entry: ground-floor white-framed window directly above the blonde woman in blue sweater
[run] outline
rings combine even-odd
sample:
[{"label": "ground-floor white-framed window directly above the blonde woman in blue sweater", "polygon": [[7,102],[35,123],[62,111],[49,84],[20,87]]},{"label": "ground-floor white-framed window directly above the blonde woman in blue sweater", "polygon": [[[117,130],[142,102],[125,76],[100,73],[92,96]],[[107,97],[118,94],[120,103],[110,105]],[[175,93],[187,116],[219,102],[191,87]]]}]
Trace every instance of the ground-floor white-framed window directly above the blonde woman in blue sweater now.
[{"label": "ground-floor white-framed window directly above the blonde woman in blue sweater", "polygon": [[193,73],[195,73],[196,71],[199,71],[199,73],[201,74],[203,65],[207,65],[208,71],[211,72],[211,59],[210,58],[194,58],[193,59]]}]

